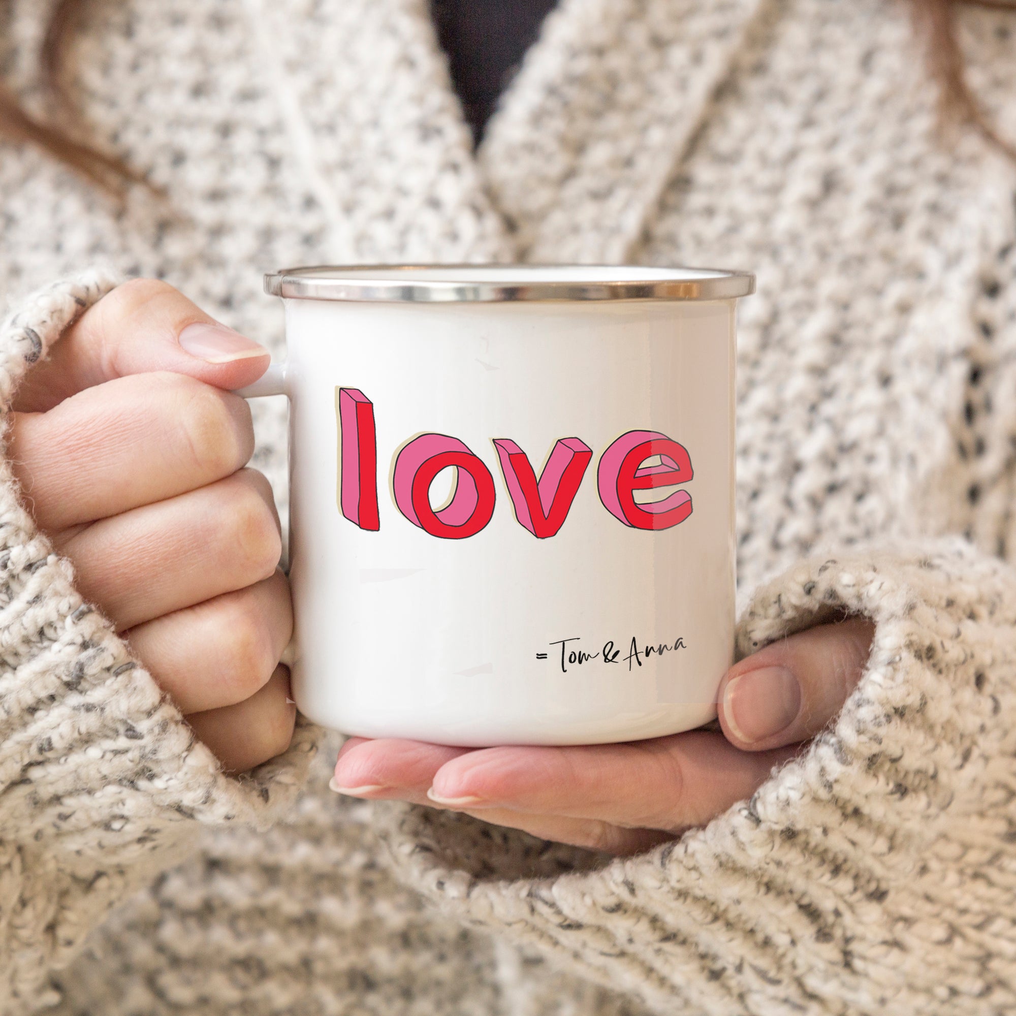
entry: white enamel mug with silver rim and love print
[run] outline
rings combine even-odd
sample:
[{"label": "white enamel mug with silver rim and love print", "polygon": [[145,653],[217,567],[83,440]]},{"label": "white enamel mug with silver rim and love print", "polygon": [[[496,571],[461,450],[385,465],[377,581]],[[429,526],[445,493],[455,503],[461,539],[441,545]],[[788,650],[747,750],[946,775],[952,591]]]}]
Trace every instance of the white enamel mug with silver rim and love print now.
[{"label": "white enamel mug with silver rim and love print", "polygon": [[654,738],[734,650],[735,309],[753,276],[319,267],[289,359],[293,694],[350,735]]}]

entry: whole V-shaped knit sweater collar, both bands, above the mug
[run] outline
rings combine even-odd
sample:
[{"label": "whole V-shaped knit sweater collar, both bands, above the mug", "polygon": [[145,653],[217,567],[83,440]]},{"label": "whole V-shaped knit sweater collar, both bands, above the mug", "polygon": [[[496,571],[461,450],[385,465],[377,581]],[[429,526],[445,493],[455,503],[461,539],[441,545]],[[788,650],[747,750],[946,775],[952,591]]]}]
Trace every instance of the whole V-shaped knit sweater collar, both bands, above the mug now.
[{"label": "whole V-shaped knit sweater collar, both bands, above the mug", "polygon": [[426,0],[246,0],[336,260],[630,258],[768,0],[564,0],[478,155]]}]

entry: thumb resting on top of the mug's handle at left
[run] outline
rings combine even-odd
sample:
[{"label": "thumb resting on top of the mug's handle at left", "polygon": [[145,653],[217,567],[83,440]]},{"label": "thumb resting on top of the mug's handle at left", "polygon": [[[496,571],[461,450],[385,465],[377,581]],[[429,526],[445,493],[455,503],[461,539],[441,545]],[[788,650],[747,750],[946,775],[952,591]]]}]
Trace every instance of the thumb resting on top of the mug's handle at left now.
[{"label": "thumb resting on top of the mug's handle at left", "polygon": [[166,282],[138,278],[108,293],[67,329],[18,389],[14,407],[42,412],[93,385],[170,371],[216,388],[240,388],[271,354],[219,324]]}]

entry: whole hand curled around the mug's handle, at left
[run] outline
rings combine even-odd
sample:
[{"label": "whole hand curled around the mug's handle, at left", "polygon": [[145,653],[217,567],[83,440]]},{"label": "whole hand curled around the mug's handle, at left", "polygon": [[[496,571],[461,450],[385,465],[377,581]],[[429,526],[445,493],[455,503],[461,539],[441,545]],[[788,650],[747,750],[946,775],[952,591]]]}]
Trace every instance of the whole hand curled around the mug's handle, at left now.
[{"label": "whole hand curled around the mug's handle, at left", "polygon": [[78,590],[231,771],[290,744],[290,590],[247,403],[268,351],[171,287],[119,287],[28,375],[7,441]]}]

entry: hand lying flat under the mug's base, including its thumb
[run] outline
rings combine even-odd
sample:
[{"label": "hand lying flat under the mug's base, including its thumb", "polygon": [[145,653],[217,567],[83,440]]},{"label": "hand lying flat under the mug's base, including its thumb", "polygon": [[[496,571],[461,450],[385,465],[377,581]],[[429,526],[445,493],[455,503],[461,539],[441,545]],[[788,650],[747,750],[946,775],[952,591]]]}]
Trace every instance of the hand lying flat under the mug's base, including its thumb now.
[{"label": "hand lying flat under the mug's base, including its thumb", "polygon": [[818,734],[861,679],[869,621],[851,618],[748,656],[719,687],[718,731],[581,748],[441,748],[347,741],[332,789],[463,811],[544,839],[634,853],[704,825]]}]

